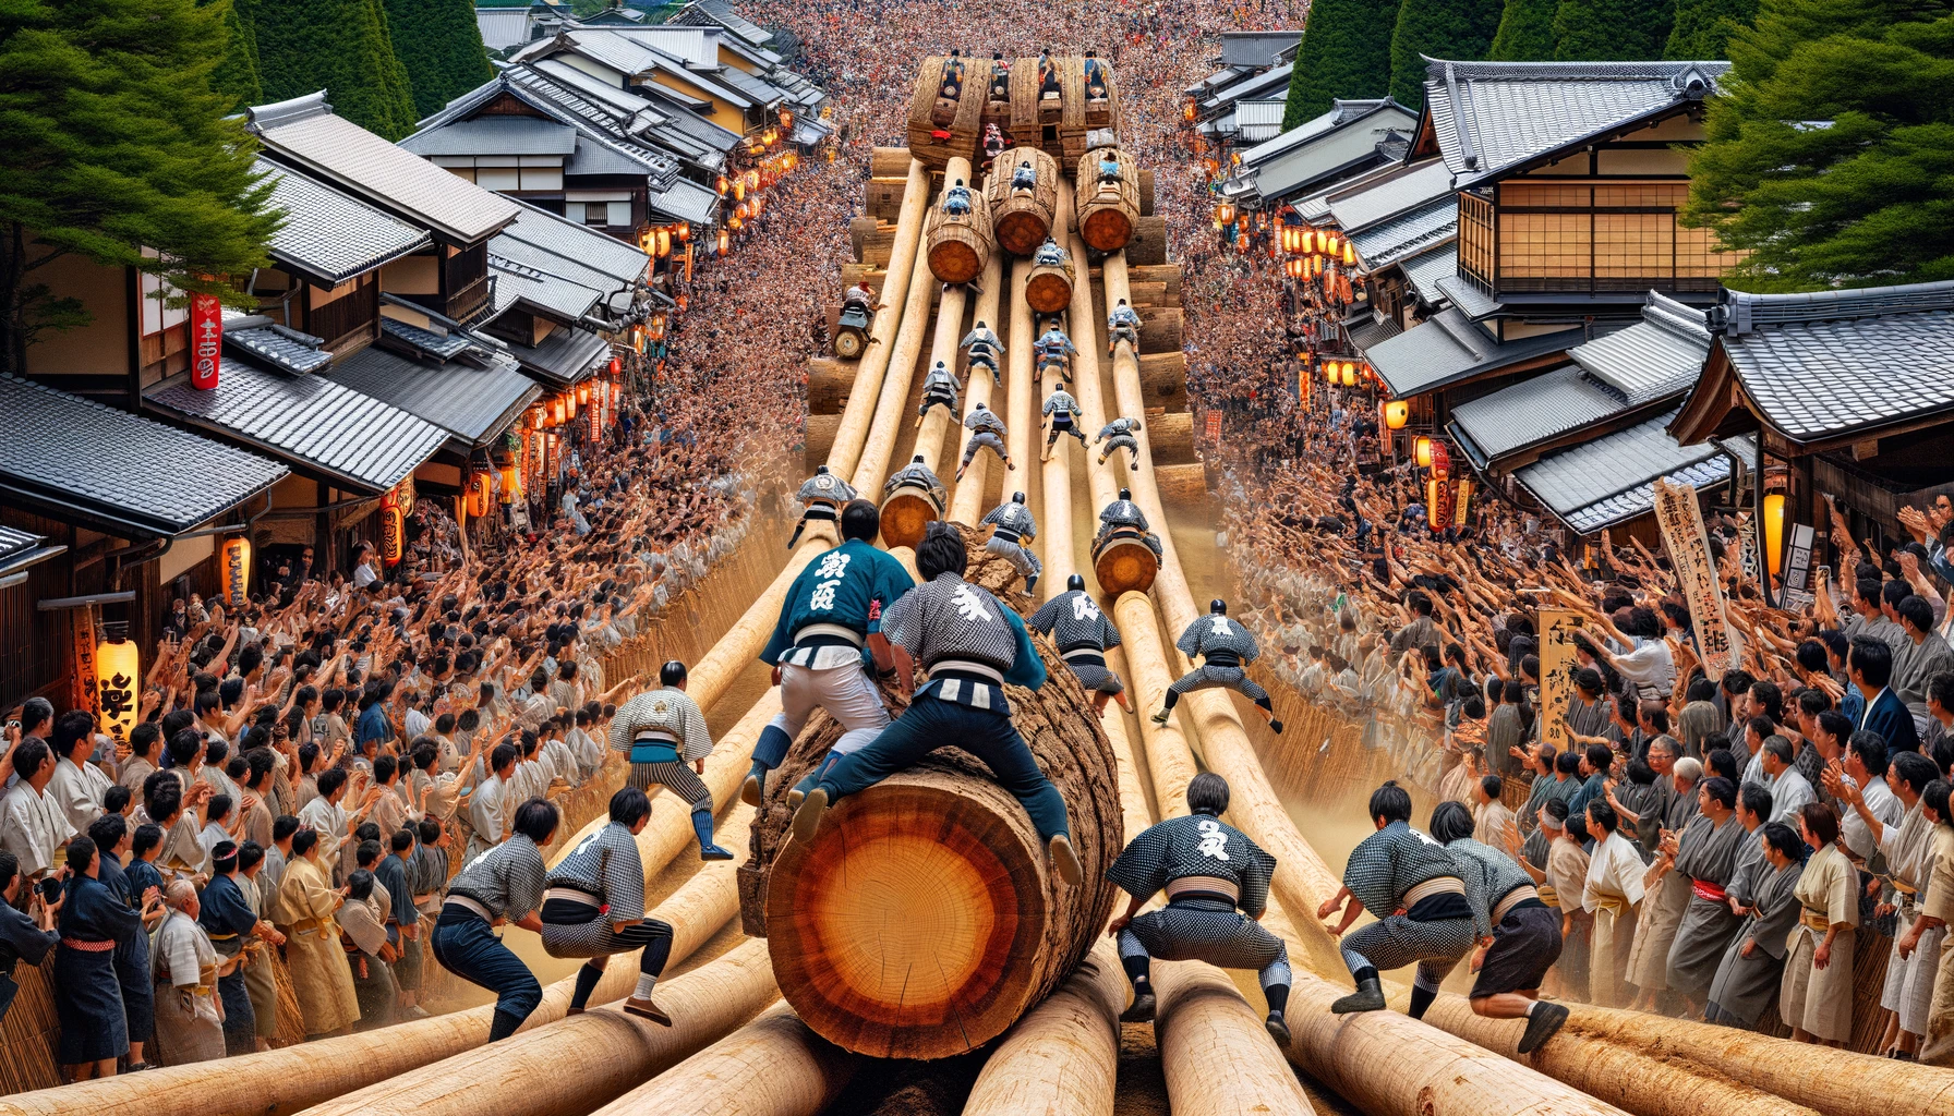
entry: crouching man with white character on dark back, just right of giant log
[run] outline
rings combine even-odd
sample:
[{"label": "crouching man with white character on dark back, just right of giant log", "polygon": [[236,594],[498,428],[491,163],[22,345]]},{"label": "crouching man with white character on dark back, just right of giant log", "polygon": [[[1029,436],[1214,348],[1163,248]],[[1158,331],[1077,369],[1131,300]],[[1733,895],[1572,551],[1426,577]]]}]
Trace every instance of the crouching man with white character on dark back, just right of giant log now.
[{"label": "crouching man with white character on dark back, just right of giant log", "polygon": [[[1120,942],[1120,964],[1133,981],[1133,1007],[1120,1022],[1153,1022],[1153,958],[1208,962],[1256,971],[1268,999],[1268,1034],[1290,1046],[1290,1024],[1282,1020],[1290,1003],[1290,950],[1262,928],[1276,858],[1221,823],[1225,778],[1202,772],[1188,780],[1188,809],[1194,813],[1135,837],[1106,870],[1106,880],[1133,897],[1106,930]],[[1163,887],[1167,909],[1141,915]]]}]

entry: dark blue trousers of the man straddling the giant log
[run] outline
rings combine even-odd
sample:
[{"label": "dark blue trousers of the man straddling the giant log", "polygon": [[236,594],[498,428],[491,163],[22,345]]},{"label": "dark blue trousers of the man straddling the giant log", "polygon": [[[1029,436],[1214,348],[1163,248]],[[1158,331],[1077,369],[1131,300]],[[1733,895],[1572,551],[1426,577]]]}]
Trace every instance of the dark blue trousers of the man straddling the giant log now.
[{"label": "dark blue trousers of the man straddling the giant log", "polygon": [[916,698],[879,737],[858,752],[848,752],[819,776],[828,792],[828,803],[864,792],[936,749],[956,745],[983,760],[998,786],[1008,790],[1032,817],[1038,837],[1071,837],[1065,821],[1065,799],[1038,770],[1038,758],[1004,713],[944,702],[932,694]]}]

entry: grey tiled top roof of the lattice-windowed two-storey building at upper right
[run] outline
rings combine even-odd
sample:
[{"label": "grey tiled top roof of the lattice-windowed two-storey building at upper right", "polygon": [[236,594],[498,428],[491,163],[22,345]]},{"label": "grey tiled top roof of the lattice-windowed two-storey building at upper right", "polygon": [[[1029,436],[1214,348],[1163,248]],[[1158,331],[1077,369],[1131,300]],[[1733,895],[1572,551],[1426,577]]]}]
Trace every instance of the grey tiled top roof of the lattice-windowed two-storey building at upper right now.
[{"label": "grey tiled top roof of the lattice-windowed two-storey building at upper right", "polygon": [[1462,188],[1702,102],[1729,70],[1729,63],[1424,63],[1424,113]]}]

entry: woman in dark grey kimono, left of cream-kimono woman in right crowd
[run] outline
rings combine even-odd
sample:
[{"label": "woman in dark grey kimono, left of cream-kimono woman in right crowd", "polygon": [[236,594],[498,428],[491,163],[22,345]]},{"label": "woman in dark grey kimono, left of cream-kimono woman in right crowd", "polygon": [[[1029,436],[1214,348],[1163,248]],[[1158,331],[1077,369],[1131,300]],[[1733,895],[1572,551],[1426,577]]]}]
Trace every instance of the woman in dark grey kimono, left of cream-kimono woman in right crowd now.
[{"label": "woman in dark grey kimono, left of cream-kimono woman in right crowd", "polygon": [[1761,833],[1763,864],[1751,880],[1737,880],[1729,889],[1745,923],[1723,950],[1704,1009],[1704,1020],[1723,1026],[1757,1028],[1784,973],[1784,938],[1798,924],[1796,889],[1805,870],[1805,842],[1782,821],[1766,823]]}]

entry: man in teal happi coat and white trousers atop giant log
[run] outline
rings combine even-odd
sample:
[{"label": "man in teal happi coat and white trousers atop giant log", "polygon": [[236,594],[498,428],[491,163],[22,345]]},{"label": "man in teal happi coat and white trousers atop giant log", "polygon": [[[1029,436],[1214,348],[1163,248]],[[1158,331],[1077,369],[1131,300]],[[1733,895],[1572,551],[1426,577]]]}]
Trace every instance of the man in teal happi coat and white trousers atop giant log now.
[{"label": "man in teal happi coat and white trousers atop giant log", "polygon": [[875,504],[850,500],[840,526],[842,545],[817,555],[793,579],[774,637],[760,653],[780,686],[780,713],[752,747],[752,770],[739,792],[746,805],[760,805],[766,772],[787,758],[815,708],[842,725],[840,739],[815,766],[817,776],[889,727],[889,709],[866,666],[873,665],[879,674],[907,670],[909,663],[899,661],[881,635],[881,614],[916,582],[903,563],[875,549],[881,532]]}]

